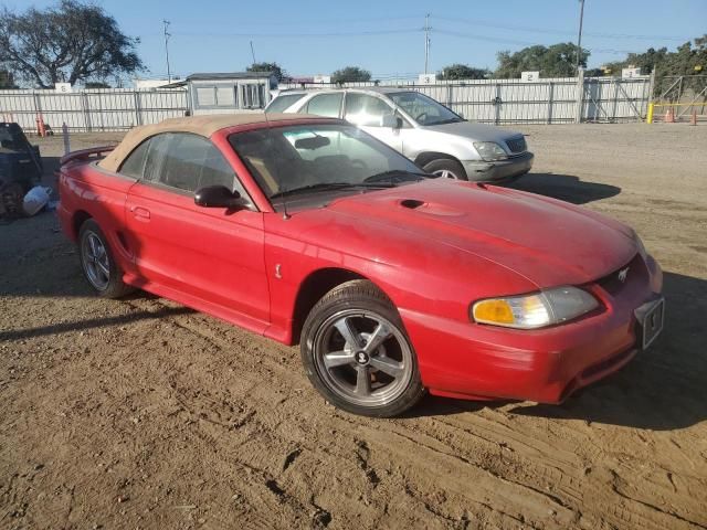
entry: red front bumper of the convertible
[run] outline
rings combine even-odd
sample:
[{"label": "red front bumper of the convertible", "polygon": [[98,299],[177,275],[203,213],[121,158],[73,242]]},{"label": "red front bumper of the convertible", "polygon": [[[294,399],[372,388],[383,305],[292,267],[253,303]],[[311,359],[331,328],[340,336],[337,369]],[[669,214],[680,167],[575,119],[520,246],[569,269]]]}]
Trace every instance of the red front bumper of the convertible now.
[{"label": "red front bumper of the convertible", "polygon": [[622,368],[641,349],[634,310],[661,292],[651,257],[643,278],[620,296],[587,286],[604,309],[573,322],[516,330],[401,310],[430,393],[462,399],[560,403],[576,390]]}]

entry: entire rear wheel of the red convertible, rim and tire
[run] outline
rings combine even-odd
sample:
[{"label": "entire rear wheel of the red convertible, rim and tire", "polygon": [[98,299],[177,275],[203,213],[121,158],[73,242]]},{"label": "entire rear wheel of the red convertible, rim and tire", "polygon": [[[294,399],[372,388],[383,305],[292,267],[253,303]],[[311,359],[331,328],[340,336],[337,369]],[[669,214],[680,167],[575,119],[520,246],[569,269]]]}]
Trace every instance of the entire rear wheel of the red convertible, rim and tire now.
[{"label": "entire rear wheel of the red convertible, rim and tire", "polygon": [[115,262],[105,234],[93,219],[78,231],[78,254],[84,276],[104,298],[119,298],[134,289],[123,283],[123,271]]}]

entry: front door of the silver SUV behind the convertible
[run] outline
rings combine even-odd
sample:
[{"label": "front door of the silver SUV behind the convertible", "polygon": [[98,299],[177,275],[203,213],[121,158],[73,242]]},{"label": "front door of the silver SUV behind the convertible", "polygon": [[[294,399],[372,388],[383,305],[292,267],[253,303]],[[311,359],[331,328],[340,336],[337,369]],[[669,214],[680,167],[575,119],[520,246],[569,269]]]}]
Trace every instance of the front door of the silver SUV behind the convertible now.
[{"label": "front door of the silver SUV behind the convertible", "polygon": [[[347,92],[344,102],[344,119],[358,126],[369,135],[378,138],[383,144],[388,144],[398,152],[403,152],[403,128],[383,127],[384,115],[394,115],[394,109],[382,98]],[[402,118],[401,118],[402,119]]]}]

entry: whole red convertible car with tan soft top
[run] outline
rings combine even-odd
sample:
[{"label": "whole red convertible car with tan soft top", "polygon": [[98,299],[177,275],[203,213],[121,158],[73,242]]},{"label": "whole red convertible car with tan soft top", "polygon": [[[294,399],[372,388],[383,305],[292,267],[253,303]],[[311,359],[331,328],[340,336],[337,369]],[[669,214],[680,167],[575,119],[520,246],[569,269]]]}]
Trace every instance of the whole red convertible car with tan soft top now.
[{"label": "whole red convertible car with tan soft top", "polygon": [[630,227],[434,179],[338,119],[199,116],[67,155],[59,215],[105,297],[140,288],[286,344],[331,403],[558,403],[648,347],[662,272]]}]

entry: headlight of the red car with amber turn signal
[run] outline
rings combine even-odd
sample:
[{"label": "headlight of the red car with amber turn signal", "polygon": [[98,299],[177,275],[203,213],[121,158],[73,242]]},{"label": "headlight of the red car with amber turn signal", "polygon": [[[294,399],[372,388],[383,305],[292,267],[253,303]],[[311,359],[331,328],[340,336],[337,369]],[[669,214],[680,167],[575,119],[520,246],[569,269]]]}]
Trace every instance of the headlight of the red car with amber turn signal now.
[{"label": "headlight of the red car with amber turn signal", "polygon": [[599,301],[577,287],[557,287],[532,295],[479,300],[472,318],[479,324],[535,329],[561,324],[599,307]]}]

